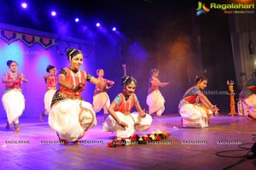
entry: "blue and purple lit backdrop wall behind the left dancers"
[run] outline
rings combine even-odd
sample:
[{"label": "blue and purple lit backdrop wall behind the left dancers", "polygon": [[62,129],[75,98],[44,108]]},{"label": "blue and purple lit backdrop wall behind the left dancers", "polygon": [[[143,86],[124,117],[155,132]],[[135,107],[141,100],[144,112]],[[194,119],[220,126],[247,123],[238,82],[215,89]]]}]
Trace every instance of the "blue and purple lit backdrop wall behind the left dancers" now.
[{"label": "blue and purple lit backdrop wall behind the left dancers", "polygon": [[[45,83],[44,75],[47,74],[47,65],[55,65],[57,71],[63,67],[68,67],[69,62],[66,55],[66,50],[69,47],[79,48],[84,52],[84,65],[82,69],[94,73],[96,70],[95,59],[95,43],[71,37],[58,37],[54,34],[49,34],[42,31],[34,31],[31,29],[21,28],[17,26],[9,26],[0,24],[0,29],[3,31],[13,31],[19,36],[23,34],[25,37],[49,37],[55,40],[55,44],[50,48],[42,47],[39,43],[24,43],[19,39],[14,42],[7,43],[0,39],[0,75],[9,71],[6,65],[7,60],[12,59],[18,62],[18,71],[23,72],[28,82],[23,83],[22,92],[26,99],[26,109],[21,117],[39,116],[44,111],[44,93]],[[96,76],[95,74],[93,74]],[[4,84],[0,86],[0,91],[3,92]],[[91,102],[94,86],[87,83],[83,93],[83,98]],[[2,95],[1,95],[2,98]],[[3,110],[3,105],[0,105],[0,117],[5,118],[6,114]]]}]

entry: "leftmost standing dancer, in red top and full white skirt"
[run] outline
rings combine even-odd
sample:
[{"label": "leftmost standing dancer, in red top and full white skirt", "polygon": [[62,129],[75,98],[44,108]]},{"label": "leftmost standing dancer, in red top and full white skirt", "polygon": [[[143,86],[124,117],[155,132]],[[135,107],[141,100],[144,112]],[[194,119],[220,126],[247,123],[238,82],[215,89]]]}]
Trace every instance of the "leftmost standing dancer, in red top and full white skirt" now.
[{"label": "leftmost standing dancer, in red top and full white skirt", "polygon": [[25,99],[21,84],[27,82],[27,80],[23,73],[17,71],[18,63],[16,61],[8,60],[7,65],[10,72],[6,72],[2,79],[5,84],[2,103],[8,118],[6,128],[9,129],[9,126],[14,124],[15,132],[20,132],[19,117],[25,110]]}]

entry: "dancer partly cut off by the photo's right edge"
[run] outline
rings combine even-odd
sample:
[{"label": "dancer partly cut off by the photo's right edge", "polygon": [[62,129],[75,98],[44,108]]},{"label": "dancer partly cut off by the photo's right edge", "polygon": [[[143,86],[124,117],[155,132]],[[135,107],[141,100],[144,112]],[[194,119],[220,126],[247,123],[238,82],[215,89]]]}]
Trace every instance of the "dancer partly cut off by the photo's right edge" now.
[{"label": "dancer partly cut off by the photo's right edge", "polygon": [[247,106],[249,114],[246,119],[256,122],[256,69],[253,70],[253,78],[246,83],[245,88],[241,89],[239,97]]}]

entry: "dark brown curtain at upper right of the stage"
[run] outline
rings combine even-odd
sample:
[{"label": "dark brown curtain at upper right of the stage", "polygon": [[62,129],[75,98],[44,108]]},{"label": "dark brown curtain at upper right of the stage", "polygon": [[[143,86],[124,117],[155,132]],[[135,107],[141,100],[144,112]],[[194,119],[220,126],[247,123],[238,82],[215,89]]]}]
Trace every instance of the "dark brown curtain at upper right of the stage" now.
[{"label": "dark brown curtain at upper right of the stage", "polygon": [[255,14],[233,14],[229,22],[236,80],[238,88],[242,88],[256,68],[256,17]]}]

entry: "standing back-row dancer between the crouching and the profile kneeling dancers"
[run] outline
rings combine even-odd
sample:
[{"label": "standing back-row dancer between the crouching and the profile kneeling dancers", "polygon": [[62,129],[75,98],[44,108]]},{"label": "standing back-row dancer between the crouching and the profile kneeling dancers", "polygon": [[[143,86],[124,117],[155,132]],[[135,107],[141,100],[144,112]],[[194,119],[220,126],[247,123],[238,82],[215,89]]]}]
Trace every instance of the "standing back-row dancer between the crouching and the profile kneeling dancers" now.
[{"label": "standing back-row dancer between the crouching and the profile kneeling dancers", "polygon": [[149,78],[149,88],[147,105],[149,107],[149,114],[152,115],[156,113],[156,116],[161,117],[162,113],[165,111],[165,99],[160,93],[159,88],[165,87],[169,82],[160,82],[158,79],[159,70],[151,69],[151,77]]}]

